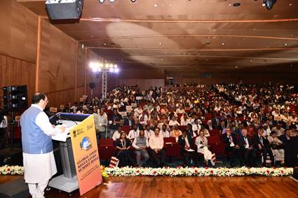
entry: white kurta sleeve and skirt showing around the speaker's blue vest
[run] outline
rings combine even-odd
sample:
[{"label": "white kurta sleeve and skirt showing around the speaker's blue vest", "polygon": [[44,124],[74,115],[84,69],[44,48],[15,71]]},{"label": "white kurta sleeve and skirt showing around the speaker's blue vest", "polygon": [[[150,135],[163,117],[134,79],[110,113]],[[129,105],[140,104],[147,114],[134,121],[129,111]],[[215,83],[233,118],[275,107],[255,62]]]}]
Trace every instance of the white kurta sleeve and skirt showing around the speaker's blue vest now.
[{"label": "white kurta sleeve and skirt showing around the speaker's blue vest", "polygon": [[[54,128],[50,124],[48,116],[43,112],[43,109],[40,106],[36,104],[32,104],[32,106],[35,106],[42,111],[36,116],[35,122],[36,125],[41,128],[44,134],[53,136],[61,132],[61,129],[57,127]],[[24,164],[24,178],[26,183],[40,183],[42,181],[48,181],[57,173],[53,151],[50,153],[42,153],[41,150],[41,154],[22,153],[22,155]]]}]

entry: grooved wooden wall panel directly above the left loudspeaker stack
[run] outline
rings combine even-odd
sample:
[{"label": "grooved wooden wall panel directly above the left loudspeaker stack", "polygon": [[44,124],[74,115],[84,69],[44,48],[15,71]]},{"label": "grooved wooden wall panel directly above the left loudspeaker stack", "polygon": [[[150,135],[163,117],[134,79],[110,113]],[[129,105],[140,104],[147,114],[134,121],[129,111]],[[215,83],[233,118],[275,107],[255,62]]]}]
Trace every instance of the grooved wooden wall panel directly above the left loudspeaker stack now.
[{"label": "grooved wooden wall panel directly above the left loudspeaker stack", "polygon": [[0,55],[0,101],[2,101],[3,98],[2,87],[8,85],[27,85],[28,98],[30,101],[34,94],[34,73],[35,64]]}]

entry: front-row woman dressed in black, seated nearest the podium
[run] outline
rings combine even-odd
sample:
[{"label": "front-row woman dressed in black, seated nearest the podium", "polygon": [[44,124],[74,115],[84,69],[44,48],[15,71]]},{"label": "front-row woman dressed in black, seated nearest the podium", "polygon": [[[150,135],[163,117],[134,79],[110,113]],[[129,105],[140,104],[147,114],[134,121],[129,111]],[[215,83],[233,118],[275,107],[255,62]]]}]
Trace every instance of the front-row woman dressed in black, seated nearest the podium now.
[{"label": "front-row woman dressed in black, seated nearest the podium", "polygon": [[116,140],[116,157],[119,160],[118,167],[133,166],[135,164],[130,146],[131,141],[126,138],[126,132],[121,132],[120,138]]}]

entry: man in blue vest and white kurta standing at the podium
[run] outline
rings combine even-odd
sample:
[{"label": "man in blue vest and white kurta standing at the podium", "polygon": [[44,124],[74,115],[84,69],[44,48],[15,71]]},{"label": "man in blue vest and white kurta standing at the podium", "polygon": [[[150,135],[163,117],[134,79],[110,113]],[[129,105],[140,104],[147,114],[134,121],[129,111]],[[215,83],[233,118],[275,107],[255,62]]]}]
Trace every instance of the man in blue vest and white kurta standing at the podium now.
[{"label": "man in blue vest and white kurta standing at the podium", "polygon": [[50,178],[57,173],[50,136],[65,132],[65,127],[53,127],[43,112],[48,104],[45,94],[36,93],[32,105],[22,113],[22,155],[24,178],[33,198],[43,198]]}]

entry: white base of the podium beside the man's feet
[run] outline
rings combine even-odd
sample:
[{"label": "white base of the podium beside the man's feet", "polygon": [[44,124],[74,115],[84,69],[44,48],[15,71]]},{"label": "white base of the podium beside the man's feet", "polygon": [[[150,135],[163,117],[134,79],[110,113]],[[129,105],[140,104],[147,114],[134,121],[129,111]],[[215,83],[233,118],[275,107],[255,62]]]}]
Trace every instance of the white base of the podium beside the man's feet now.
[{"label": "white base of the podium beside the man's feet", "polygon": [[73,192],[74,190],[79,189],[79,183],[76,176],[74,178],[66,178],[63,175],[57,176],[50,180],[48,186],[65,192]]}]

